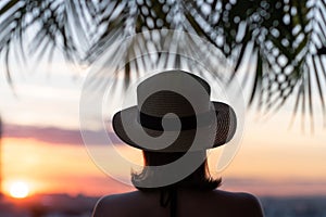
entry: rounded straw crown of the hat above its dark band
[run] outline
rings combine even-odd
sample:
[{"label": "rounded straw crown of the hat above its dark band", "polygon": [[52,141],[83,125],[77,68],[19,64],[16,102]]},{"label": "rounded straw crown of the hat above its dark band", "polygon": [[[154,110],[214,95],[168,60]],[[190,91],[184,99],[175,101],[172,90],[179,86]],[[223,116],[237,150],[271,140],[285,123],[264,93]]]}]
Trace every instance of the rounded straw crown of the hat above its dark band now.
[{"label": "rounded straw crown of the hat above its dark band", "polygon": [[210,93],[209,84],[193,74],[164,72],[138,86],[138,111],[156,117],[167,113],[179,117],[205,113],[210,111]]}]

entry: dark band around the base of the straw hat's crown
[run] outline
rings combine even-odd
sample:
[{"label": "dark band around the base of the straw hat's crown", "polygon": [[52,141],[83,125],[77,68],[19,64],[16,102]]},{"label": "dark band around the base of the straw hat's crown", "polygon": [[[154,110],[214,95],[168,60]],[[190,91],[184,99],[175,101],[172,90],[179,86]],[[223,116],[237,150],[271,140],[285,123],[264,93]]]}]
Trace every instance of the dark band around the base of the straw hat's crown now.
[{"label": "dark band around the base of the straw hat's crown", "polygon": [[[196,129],[197,127],[209,126],[212,124],[212,113],[206,112],[199,115],[184,116],[178,118],[164,118],[166,128],[163,128],[162,120],[163,117],[156,117],[152,115],[138,112],[137,120],[138,123],[148,129],[159,130],[159,131],[176,131],[179,130],[178,126],[175,125],[177,120],[181,123],[181,130]],[[197,123],[199,120],[199,123]]]}]

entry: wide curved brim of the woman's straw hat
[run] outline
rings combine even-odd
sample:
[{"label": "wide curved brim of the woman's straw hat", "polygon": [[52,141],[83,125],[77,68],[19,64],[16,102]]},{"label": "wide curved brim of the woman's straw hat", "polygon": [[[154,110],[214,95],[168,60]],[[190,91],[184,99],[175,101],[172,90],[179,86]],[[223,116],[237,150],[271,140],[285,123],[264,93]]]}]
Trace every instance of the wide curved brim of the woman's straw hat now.
[{"label": "wide curved brim of the woman's straw hat", "polygon": [[[212,102],[212,105],[214,108],[213,112],[215,112],[214,114],[216,116],[216,125],[208,125],[198,127],[196,129],[181,130],[175,142],[160,150],[155,149],[154,146],[153,149],[143,148],[141,144],[137,144],[139,142],[134,142],[147,141],[149,137],[156,138],[163,133],[163,131],[160,130],[145,128],[138,123],[137,106],[128,107],[117,112],[113,116],[112,125],[115,133],[122,141],[140,150],[153,152],[187,152],[190,149],[196,135],[200,136],[200,138],[197,138],[197,141],[200,142],[200,145],[196,145],[195,149],[191,148],[191,150],[206,150],[227,143],[234,137],[237,128],[237,117],[235,111],[229,105],[222,102]],[[128,120],[128,128],[134,130],[133,136],[137,137],[134,138],[134,140],[129,138],[128,133],[125,131],[122,117],[124,117],[125,120]],[[142,133],[143,131],[147,132],[146,137]]]}]

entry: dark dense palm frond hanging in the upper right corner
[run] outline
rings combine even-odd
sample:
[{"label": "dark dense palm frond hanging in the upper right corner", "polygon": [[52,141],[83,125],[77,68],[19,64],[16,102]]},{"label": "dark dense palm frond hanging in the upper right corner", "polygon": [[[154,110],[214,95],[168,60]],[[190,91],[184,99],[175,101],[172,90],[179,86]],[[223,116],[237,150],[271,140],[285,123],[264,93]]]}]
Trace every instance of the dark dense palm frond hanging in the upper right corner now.
[{"label": "dark dense palm frond hanging in the upper right corner", "polygon": [[[192,2],[190,8],[196,7],[190,9],[188,5],[188,11],[195,11],[191,14],[192,21],[196,21],[196,16],[200,17],[201,22],[196,23],[202,26],[197,29],[200,35],[215,42],[216,47],[234,60],[235,74],[239,67],[246,67],[243,64],[256,65],[249,104],[256,100],[259,107],[265,113],[275,113],[291,94],[298,94],[302,98],[302,103],[308,103],[302,113],[309,115],[313,123],[316,106],[312,103],[315,98],[312,87],[316,84],[319,94],[317,99],[325,117],[325,85],[322,85],[325,73],[323,69],[315,69],[311,61],[324,61],[315,53],[316,50],[321,53],[325,46],[325,1],[210,2],[210,5],[216,5],[209,10],[210,15],[205,15],[201,9],[208,2],[201,5]],[[222,35],[220,40],[218,34]],[[259,53],[254,62],[244,63],[247,50]],[[323,68],[325,63],[321,62],[321,65],[319,68]],[[246,76],[243,79],[247,79]],[[296,88],[299,86],[301,88]],[[297,105],[294,114],[296,111]]]}]

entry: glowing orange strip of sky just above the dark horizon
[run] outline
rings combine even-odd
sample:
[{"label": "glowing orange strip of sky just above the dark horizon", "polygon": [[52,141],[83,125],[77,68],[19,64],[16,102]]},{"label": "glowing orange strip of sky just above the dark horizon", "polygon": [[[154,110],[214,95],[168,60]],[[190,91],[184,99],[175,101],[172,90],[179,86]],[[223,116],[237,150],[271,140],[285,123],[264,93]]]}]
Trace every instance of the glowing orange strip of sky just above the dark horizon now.
[{"label": "glowing orange strip of sky just above the dark horizon", "polygon": [[[247,139],[243,140],[246,142]],[[12,180],[28,182],[30,194],[103,195],[134,189],[113,180],[101,171],[83,144],[51,144],[34,139],[15,138],[4,138],[2,143],[5,192],[8,192],[5,183]],[[305,169],[304,173],[300,173],[300,169],[296,169],[296,165],[302,167],[302,163],[296,159],[296,156],[289,158],[289,164],[285,166],[283,165],[285,159],[279,153],[275,153],[279,156],[279,164],[272,161],[274,154],[269,158],[268,155],[263,154],[271,151],[277,152],[277,149],[258,150],[253,146],[244,149],[244,145],[230,165],[220,174],[223,177],[222,189],[250,191],[258,195],[326,195],[326,175],[323,174],[323,165],[315,167],[314,170]],[[253,154],[253,151],[265,157],[265,161],[260,161],[260,166],[255,161],[261,156]],[[303,151],[299,155],[303,154]],[[131,155],[127,149],[121,152]],[[322,158],[311,159],[306,168],[318,161]],[[304,190],[302,190],[303,187]]]}]

